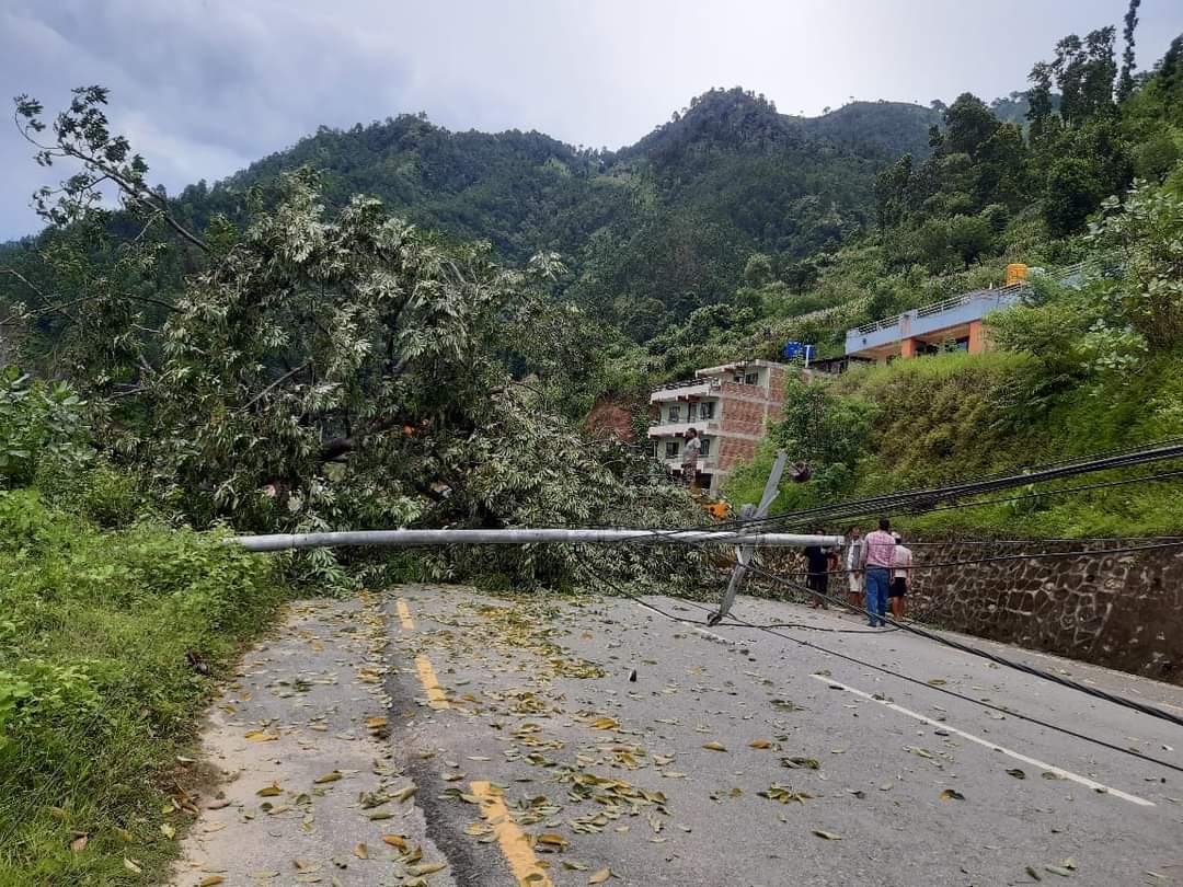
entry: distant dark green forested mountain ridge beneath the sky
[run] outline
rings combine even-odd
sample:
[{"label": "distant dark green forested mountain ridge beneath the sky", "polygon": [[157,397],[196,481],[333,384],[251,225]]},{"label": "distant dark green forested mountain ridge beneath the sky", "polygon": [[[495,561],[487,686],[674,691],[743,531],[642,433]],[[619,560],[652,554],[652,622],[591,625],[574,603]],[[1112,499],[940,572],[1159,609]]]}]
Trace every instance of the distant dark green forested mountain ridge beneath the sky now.
[{"label": "distant dark green forested mountain ridge beneath the sky", "polygon": [[886,102],[790,117],[763,96],[718,89],[636,144],[605,151],[402,115],[322,128],[180,202],[195,228],[216,213],[239,218],[252,186],[309,166],[332,205],[373,194],[421,227],[490,240],[511,261],[560,253],[577,300],[644,341],[726,298],[749,253],[794,261],[865,226],[875,174],[900,153],[923,156],[938,119]]}]

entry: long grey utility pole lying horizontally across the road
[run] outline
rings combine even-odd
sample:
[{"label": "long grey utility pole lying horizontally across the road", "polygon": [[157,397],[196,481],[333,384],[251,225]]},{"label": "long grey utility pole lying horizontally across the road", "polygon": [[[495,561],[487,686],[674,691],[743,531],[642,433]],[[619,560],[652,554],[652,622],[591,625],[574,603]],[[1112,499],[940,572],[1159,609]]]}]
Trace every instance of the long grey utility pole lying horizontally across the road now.
[{"label": "long grey utility pole lying horizontally across the road", "polygon": [[237,536],[232,539],[248,551],[289,551],[341,545],[383,545],[419,548],[421,545],[603,545],[618,542],[692,543],[717,545],[758,545],[804,548],[806,545],[841,545],[841,536],[801,533],[761,533],[723,530],[358,530],[328,533],[276,533],[273,536]]}]

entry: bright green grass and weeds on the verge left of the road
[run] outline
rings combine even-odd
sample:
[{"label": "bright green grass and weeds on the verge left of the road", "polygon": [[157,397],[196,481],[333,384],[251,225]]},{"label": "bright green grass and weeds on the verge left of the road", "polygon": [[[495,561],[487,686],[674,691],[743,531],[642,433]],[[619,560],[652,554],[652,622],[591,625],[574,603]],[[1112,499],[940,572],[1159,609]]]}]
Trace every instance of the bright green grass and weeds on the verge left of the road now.
[{"label": "bright green grass and weeds on the verge left of the road", "polygon": [[176,756],[282,603],[273,568],[212,535],[101,531],[32,491],[0,492],[0,886],[147,883],[186,818]]}]

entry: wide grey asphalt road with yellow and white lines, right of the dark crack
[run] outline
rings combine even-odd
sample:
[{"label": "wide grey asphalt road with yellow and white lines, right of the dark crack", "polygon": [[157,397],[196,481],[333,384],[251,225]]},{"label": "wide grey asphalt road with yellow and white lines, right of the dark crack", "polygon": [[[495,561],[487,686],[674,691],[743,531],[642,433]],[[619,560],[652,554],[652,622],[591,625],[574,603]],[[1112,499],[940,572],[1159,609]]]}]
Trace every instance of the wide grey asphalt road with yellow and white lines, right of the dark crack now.
[{"label": "wide grey asphalt road with yellow and white lines, right of the dark crack", "polygon": [[[548,600],[386,602],[390,742],[458,885],[1183,883],[1183,773],[942,691],[1183,765],[1165,721],[853,616],[738,606],[868,665]],[[976,642],[1183,712],[1181,688]]]}]

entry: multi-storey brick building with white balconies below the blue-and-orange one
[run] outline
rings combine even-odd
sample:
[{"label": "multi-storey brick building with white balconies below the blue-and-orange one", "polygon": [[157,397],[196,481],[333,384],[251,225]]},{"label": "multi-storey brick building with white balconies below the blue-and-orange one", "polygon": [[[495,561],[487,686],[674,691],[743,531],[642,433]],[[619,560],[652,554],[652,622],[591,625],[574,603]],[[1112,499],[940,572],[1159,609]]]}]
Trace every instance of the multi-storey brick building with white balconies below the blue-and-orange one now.
[{"label": "multi-storey brick building with white balconies below the blue-and-orange one", "polygon": [[755,455],[768,420],[780,417],[790,371],[783,363],[744,361],[696,370],[691,380],[658,388],[649,395],[654,458],[680,474],[686,430],[697,429],[703,441],[698,483],[717,492],[736,465]]}]

